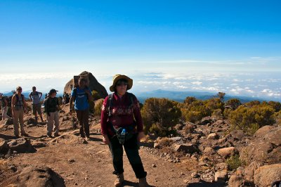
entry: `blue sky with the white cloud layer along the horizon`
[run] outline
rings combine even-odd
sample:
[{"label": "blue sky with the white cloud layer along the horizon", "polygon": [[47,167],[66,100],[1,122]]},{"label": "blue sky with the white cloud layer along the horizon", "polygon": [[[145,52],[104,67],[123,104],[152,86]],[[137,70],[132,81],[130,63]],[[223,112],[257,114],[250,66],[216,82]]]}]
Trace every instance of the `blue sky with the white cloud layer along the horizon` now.
[{"label": "blue sky with the white cloud layer along the horizon", "polygon": [[0,68],[0,91],[62,89],[87,70],[107,89],[124,73],[136,80],[133,91],[280,97],[280,8],[280,1],[2,0],[0,63],[13,68]]}]

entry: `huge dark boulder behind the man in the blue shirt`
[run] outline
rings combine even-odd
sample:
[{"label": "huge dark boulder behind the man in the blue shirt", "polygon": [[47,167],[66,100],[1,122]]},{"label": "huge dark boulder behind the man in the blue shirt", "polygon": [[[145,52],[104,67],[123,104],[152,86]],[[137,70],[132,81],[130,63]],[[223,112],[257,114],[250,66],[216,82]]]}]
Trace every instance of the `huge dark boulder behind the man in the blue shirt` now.
[{"label": "huge dark boulder behind the man in the blue shirt", "polygon": [[[98,82],[98,80],[93,76],[93,74],[91,74],[91,72],[81,72],[79,76],[89,77],[89,89],[91,89],[91,91],[96,90],[100,98],[105,98],[108,95],[105,87]],[[66,91],[67,93],[71,93],[72,86],[74,86],[73,79],[67,82],[64,91]]]}]

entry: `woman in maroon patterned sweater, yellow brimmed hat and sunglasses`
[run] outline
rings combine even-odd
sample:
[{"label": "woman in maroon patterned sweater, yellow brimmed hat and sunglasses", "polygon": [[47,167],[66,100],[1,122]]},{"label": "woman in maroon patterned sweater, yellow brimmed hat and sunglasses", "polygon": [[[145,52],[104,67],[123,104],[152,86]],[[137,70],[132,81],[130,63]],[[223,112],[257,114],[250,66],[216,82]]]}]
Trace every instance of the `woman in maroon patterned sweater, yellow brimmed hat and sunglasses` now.
[{"label": "woman in maroon patterned sweater, yellow brimmed hat and sunglasses", "polygon": [[[112,154],[113,174],[117,175],[115,186],[124,182],[123,147],[129,159],[139,186],[148,186],[141,157],[138,153],[139,141],[144,137],[141,109],[136,96],[127,90],[133,86],[133,79],[126,75],[115,75],[110,91],[101,111],[101,134]],[[134,120],[135,119],[135,120]]]}]

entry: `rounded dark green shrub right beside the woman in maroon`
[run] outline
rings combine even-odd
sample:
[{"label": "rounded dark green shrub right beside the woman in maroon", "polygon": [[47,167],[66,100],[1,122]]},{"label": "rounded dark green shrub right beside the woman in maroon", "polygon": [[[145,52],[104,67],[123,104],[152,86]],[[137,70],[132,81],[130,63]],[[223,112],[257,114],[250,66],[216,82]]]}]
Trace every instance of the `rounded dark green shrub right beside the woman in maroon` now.
[{"label": "rounded dark green shrub right beside the woman in maroon", "polygon": [[179,122],[181,110],[177,103],[166,98],[148,98],[141,114],[143,116],[144,130],[156,133],[159,136],[166,136]]}]

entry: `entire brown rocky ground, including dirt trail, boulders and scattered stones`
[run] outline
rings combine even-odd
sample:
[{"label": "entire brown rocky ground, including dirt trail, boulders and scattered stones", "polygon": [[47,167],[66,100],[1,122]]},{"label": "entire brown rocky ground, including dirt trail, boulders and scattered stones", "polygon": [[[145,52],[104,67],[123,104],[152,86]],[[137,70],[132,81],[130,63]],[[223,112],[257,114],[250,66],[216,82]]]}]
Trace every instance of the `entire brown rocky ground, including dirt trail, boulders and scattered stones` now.
[{"label": "entire brown rocky ground, including dirt trail, boulders and scattered stones", "polygon": [[[28,137],[16,139],[9,121],[0,123],[0,186],[113,186],[112,159],[100,124],[91,116],[91,138],[73,128],[74,116],[60,111],[60,136],[46,137],[46,123],[25,116]],[[140,155],[151,186],[270,186],[281,180],[281,127],[247,136],[227,120],[207,117],[176,126],[180,136],[148,136]],[[235,157],[236,155],[236,157]],[[242,160],[241,166],[237,160]],[[230,162],[232,161],[232,162]],[[138,186],[124,155],[124,186]]]}]

